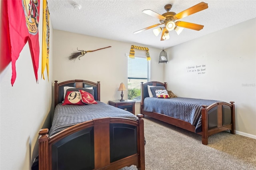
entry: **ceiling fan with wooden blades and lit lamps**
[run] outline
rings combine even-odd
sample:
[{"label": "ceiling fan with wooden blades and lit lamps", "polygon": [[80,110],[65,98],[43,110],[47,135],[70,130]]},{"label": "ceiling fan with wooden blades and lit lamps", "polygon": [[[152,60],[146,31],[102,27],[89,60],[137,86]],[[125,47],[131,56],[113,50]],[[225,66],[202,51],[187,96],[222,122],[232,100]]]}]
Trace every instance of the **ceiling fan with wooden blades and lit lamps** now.
[{"label": "ceiling fan with wooden blades and lit lamps", "polygon": [[170,5],[170,4],[164,6],[166,13],[164,13],[162,15],[160,15],[152,10],[143,10],[142,11],[143,13],[153,16],[155,18],[158,18],[160,20],[161,24],[155,24],[153,26],[149,26],[142,30],[138,30],[138,31],[134,32],[134,34],[137,34],[144,30],[148,30],[150,28],[154,28],[154,27],[164,24],[164,26],[162,28],[159,27],[159,28],[156,28],[153,30],[153,32],[156,36],[158,36],[160,34],[160,32],[162,31],[161,41],[163,41],[163,40],[168,40],[170,38],[169,31],[172,31],[172,30],[175,30],[177,32],[177,34],[179,35],[180,32],[183,30],[183,28],[188,28],[188,29],[197,30],[197,31],[202,30],[204,28],[204,26],[199,25],[199,24],[193,24],[190,22],[176,21],[176,20],[179,20],[181,18],[184,18],[184,17],[194,14],[196,12],[205,10],[208,8],[208,4],[206,4],[204,2],[200,2],[199,4],[196,4],[195,6],[192,6],[178,14],[176,14],[175,12],[169,12],[171,8],[172,8],[172,5]]}]

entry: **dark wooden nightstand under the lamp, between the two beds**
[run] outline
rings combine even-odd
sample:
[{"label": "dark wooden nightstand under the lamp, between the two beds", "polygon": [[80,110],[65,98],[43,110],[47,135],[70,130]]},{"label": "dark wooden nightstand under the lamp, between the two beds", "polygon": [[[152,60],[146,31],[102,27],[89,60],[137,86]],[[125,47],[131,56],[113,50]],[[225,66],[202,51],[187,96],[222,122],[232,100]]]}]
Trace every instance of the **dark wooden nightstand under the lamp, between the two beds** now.
[{"label": "dark wooden nightstand under the lamp, between the two beds", "polygon": [[120,109],[123,109],[125,111],[129,111],[130,113],[135,115],[135,101],[134,100],[112,100],[108,101],[109,105],[118,107]]}]

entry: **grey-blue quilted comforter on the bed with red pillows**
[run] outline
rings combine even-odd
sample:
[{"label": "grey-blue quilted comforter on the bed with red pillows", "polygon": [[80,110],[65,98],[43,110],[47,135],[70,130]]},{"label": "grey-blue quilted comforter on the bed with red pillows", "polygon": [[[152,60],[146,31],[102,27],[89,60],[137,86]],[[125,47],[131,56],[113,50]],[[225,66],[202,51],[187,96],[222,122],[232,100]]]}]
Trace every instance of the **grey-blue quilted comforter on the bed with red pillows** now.
[{"label": "grey-blue quilted comforter on the bed with red pillows", "polygon": [[68,127],[103,117],[122,117],[137,120],[132,113],[97,101],[94,105],[64,105],[59,103],[54,110],[54,118],[49,136],[52,136]]}]

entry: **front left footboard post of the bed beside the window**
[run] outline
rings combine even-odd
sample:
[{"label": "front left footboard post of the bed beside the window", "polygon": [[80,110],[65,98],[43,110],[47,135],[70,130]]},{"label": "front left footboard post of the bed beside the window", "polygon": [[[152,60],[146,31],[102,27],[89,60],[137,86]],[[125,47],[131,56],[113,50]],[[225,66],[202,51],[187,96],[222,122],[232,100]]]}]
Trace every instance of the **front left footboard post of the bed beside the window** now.
[{"label": "front left footboard post of the bed beside the window", "polygon": [[208,111],[207,106],[202,105],[202,144],[208,144]]}]

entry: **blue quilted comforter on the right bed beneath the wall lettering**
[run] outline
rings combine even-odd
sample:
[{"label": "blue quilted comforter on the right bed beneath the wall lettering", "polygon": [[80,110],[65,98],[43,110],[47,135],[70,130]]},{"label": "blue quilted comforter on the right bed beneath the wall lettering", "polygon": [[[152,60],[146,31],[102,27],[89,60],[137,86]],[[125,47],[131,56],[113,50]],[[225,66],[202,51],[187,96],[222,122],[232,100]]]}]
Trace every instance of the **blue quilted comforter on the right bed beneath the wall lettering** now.
[{"label": "blue quilted comforter on the right bed beneath the wall lettering", "polygon": [[202,132],[202,105],[209,106],[219,101],[176,97],[160,99],[146,97],[144,111],[157,112],[189,122],[196,127],[195,132]]}]

